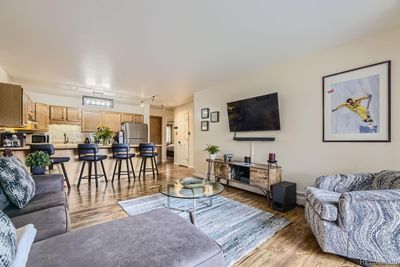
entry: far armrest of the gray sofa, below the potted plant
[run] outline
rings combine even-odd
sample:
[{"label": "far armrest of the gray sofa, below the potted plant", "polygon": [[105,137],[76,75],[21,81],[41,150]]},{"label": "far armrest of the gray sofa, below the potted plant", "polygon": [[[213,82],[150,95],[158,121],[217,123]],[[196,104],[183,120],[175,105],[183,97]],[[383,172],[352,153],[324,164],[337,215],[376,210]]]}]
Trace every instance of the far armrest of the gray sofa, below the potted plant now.
[{"label": "far armrest of the gray sofa, below the potted plant", "polygon": [[35,175],[35,195],[64,191],[64,176],[61,174]]}]

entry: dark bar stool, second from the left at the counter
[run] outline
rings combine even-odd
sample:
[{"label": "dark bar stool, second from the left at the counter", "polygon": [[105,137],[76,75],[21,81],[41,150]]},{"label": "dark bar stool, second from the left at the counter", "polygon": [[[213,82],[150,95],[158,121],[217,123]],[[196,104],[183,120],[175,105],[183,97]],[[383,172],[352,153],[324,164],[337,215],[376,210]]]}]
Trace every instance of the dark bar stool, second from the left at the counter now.
[{"label": "dark bar stool, second from the left at the counter", "polygon": [[[98,186],[98,178],[99,177],[104,177],[106,183],[107,181],[107,175],[106,171],[104,169],[104,164],[103,160],[107,159],[107,155],[98,155],[97,153],[99,152],[99,147],[97,144],[79,144],[78,145],[78,160],[83,161],[82,169],[81,169],[81,174],[79,175],[79,180],[78,180],[78,188],[81,184],[82,179],[88,179],[89,184],[90,180],[92,178],[92,163],[94,164],[94,179],[96,180],[96,187]],[[98,174],[97,173],[97,162],[100,161],[101,163],[101,168],[103,169],[103,174]],[[85,169],[85,164],[86,162],[89,165],[89,173],[86,176],[83,175],[83,171]]]}]

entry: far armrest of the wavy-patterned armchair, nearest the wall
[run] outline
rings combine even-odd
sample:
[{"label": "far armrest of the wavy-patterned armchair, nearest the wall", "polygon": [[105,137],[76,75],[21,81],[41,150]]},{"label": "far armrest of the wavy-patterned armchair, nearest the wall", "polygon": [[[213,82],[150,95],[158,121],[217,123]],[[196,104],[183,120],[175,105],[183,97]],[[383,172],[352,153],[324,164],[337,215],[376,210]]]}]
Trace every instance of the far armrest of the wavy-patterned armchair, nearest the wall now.
[{"label": "far armrest of the wavy-patterned armchair, nearest the wall", "polygon": [[368,189],[373,180],[374,174],[372,173],[327,175],[318,177],[315,180],[314,187],[344,193]]}]

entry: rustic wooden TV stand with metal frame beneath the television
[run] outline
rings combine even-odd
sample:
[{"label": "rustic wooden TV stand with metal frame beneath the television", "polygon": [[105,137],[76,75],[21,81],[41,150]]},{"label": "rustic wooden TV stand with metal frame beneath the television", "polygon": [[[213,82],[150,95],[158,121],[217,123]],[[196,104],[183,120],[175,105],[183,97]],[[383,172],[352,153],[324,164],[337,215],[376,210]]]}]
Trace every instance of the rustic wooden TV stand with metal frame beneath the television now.
[{"label": "rustic wooden TV stand with metal frame beneath the television", "polygon": [[222,159],[207,159],[207,179],[210,180],[214,169],[216,181],[226,180],[259,188],[268,201],[271,197],[271,185],[281,182],[282,168],[277,165],[245,163],[243,161],[224,161]]}]

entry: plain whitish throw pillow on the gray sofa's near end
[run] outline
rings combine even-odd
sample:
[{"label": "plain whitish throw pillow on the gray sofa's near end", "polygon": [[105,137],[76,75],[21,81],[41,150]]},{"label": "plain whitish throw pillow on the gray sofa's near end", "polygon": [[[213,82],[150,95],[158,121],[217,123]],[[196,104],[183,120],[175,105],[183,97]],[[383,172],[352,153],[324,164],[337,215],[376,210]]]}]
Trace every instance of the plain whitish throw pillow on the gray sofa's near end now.
[{"label": "plain whitish throw pillow on the gray sofa's near end", "polygon": [[35,236],[36,228],[33,224],[28,224],[17,229],[17,254],[15,254],[12,267],[26,266]]}]

